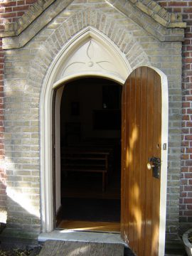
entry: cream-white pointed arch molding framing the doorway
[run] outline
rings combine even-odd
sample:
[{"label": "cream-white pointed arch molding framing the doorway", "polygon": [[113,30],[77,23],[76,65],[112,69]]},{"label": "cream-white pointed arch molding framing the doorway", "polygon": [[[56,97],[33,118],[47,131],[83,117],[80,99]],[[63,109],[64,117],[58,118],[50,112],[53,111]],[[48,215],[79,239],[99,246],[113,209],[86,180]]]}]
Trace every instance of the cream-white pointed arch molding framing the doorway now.
[{"label": "cream-white pointed arch molding framing the doorway", "polygon": [[[98,41],[103,48],[110,49],[115,58],[118,60],[124,68],[123,77],[118,76],[117,73],[113,74],[103,70],[103,72],[97,73],[90,69],[90,71],[81,71],[78,73],[74,71],[73,74],[67,75],[61,78],[61,71],[65,66],[65,62],[68,61],[70,55],[75,50],[78,50],[83,43],[93,38]],[[117,66],[117,70],[119,66]],[[50,232],[53,230],[53,162],[52,162],[52,105],[53,105],[53,90],[58,85],[71,80],[72,78],[80,78],[82,76],[100,76],[102,78],[112,79],[117,82],[124,82],[132,69],[127,59],[122,55],[117,46],[110,41],[107,36],[97,31],[92,27],[87,27],[75,35],[56,55],[53,63],[51,63],[46,77],[43,80],[40,96],[40,136],[41,136],[41,220],[42,231]]]}]

